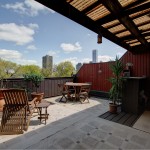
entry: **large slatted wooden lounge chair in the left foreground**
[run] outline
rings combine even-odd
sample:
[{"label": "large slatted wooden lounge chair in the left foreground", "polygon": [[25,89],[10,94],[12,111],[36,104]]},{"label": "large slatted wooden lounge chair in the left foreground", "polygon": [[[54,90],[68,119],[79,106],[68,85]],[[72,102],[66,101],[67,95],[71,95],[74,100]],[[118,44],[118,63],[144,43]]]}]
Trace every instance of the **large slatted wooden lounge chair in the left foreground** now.
[{"label": "large slatted wooden lounge chair in the left foreground", "polygon": [[28,103],[28,96],[24,89],[2,90],[5,105],[0,126],[0,134],[22,134],[27,130],[34,112],[34,98]]}]

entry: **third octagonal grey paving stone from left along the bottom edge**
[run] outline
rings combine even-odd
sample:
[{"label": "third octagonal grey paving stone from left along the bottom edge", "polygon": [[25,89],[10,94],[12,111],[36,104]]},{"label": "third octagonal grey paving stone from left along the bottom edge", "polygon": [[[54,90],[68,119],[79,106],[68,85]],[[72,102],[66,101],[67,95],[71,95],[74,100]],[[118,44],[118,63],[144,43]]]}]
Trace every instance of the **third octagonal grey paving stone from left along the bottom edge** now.
[{"label": "third octagonal grey paving stone from left along the bottom edge", "polygon": [[107,139],[107,142],[120,147],[123,143],[123,140],[112,135]]}]

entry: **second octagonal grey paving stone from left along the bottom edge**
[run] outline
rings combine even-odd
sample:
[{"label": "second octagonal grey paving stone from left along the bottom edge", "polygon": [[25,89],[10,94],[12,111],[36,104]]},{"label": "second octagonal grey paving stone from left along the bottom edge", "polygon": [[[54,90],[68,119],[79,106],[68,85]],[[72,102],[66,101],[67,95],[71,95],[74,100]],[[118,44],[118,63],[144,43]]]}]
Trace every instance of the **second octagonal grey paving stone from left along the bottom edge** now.
[{"label": "second octagonal grey paving stone from left along the bottom edge", "polygon": [[82,143],[89,146],[89,148],[93,148],[98,143],[98,141],[95,138],[88,136],[82,140]]}]

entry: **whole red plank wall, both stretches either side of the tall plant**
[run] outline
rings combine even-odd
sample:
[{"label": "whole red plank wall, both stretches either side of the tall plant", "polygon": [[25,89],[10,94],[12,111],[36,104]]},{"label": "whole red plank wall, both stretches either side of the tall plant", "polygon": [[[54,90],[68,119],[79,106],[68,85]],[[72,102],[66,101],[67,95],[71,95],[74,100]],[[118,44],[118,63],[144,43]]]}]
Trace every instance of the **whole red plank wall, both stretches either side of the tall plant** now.
[{"label": "whole red plank wall, both stretches either side of the tall plant", "polygon": [[[146,88],[150,92],[150,51],[136,55],[127,51],[121,60],[124,65],[133,64],[131,76],[148,77]],[[108,78],[112,75],[110,63],[84,64],[77,74],[78,82],[92,82],[92,90],[108,92],[111,87]]]}]

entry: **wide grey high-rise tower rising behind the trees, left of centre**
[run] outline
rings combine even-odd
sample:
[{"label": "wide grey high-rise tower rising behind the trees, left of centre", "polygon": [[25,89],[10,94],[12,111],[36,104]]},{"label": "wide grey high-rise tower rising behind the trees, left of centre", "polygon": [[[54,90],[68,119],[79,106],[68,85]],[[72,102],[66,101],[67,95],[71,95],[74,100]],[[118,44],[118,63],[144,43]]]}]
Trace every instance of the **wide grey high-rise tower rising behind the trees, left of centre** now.
[{"label": "wide grey high-rise tower rising behind the trees, left of centre", "polygon": [[53,57],[46,55],[42,57],[42,67],[43,68],[49,68],[52,70],[53,68]]}]

